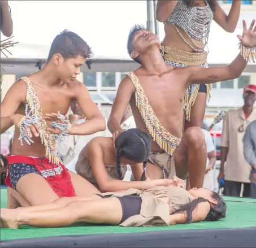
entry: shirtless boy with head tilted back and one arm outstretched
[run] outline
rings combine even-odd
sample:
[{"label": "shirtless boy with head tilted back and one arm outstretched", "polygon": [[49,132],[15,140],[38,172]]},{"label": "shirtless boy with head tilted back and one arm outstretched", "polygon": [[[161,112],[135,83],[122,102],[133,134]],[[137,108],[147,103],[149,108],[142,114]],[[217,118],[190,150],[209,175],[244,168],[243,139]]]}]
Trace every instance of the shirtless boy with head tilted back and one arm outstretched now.
[{"label": "shirtless boy with head tilted back and one arm outstretched", "polygon": [[[237,36],[245,50],[255,53],[255,20]],[[201,188],[206,164],[206,145],[201,128],[191,127],[183,134],[183,99],[189,84],[211,84],[236,79],[248,63],[238,55],[228,66],[175,68],[164,63],[159,53],[161,44],[151,31],[136,25],[129,33],[128,53],[141,67],[120,82],[112,106],[108,128],[115,138],[122,132],[120,121],[130,103],[137,128],[151,133],[151,154],[147,177],[162,179],[176,174],[180,179],[189,175],[190,186]],[[251,48],[250,48],[251,47]],[[254,54],[255,56],[255,54]],[[139,171],[134,172],[135,169]],[[133,169],[140,180],[142,165]]]}]

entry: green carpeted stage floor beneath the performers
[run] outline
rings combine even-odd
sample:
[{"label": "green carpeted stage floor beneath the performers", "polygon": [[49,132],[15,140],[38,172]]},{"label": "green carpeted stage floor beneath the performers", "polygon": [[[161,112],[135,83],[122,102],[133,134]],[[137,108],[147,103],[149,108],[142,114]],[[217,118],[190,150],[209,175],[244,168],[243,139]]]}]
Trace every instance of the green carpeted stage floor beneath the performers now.
[{"label": "green carpeted stage floor beneath the performers", "polygon": [[[170,227],[112,227],[97,225],[79,225],[67,228],[33,228],[20,227],[18,230],[1,229],[1,241],[21,238],[39,238],[50,236],[71,236],[85,234],[136,233],[159,230],[189,230],[212,228],[247,228],[256,227],[256,199],[225,197],[228,205],[227,217],[216,222],[201,222]],[[1,207],[6,207],[6,189],[1,189]]]}]

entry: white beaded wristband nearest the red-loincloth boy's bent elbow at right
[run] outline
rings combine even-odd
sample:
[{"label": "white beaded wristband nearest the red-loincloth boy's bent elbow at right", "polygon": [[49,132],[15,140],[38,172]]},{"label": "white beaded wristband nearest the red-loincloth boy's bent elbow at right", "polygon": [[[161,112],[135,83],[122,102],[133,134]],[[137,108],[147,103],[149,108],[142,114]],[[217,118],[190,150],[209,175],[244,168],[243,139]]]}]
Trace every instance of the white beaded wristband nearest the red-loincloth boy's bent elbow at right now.
[{"label": "white beaded wristband nearest the red-loincloth boy's bent elbow at right", "polygon": [[60,112],[58,112],[58,119],[61,121],[61,122],[57,122],[57,121],[52,121],[50,123],[50,126],[52,128],[58,128],[60,129],[62,132],[60,134],[54,134],[56,140],[58,143],[61,143],[61,142],[65,142],[64,140],[64,136],[67,136],[69,135],[70,133],[70,128],[71,128],[71,124],[70,124],[70,121],[67,120],[65,118],[64,115],[60,114]]}]

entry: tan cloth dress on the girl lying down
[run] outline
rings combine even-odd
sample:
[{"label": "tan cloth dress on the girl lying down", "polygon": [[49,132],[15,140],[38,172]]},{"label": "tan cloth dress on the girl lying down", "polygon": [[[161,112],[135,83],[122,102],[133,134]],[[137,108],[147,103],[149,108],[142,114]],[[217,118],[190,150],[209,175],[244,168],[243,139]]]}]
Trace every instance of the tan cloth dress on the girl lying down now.
[{"label": "tan cloth dress on the girl lying down", "polygon": [[131,216],[119,224],[123,227],[169,225],[169,215],[194,199],[185,189],[165,186],[147,190],[128,189],[122,193],[111,192],[102,195],[111,195],[111,197],[140,195],[142,199],[140,214]]}]

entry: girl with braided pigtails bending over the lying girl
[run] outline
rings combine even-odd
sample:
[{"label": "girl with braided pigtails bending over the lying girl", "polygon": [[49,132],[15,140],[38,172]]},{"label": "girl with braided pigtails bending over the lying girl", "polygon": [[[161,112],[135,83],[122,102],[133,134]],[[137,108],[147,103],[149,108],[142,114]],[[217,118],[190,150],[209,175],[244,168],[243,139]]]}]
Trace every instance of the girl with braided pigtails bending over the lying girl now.
[{"label": "girl with braided pigtails bending over the lying girl", "polygon": [[[81,150],[75,169],[101,192],[176,184],[183,187],[184,181],[177,177],[145,181],[146,160],[149,158],[150,148],[149,135],[137,128],[125,130],[116,138],[114,145],[112,137],[95,137]],[[141,181],[122,181],[127,164],[133,169],[133,165],[138,163],[144,164]]]}]

